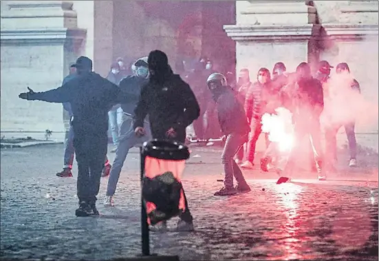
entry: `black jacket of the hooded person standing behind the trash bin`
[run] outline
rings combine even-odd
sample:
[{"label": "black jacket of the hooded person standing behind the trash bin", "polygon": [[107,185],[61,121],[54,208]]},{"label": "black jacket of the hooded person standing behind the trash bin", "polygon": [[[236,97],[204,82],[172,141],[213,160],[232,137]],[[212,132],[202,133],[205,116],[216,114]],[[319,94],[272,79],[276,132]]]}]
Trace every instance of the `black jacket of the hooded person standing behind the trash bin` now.
[{"label": "black jacket of the hooded person standing behind the trash bin", "polygon": [[175,140],[184,143],[186,127],[199,117],[199,112],[199,103],[191,87],[170,69],[158,80],[151,77],[142,88],[134,110],[133,127],[143,127],[144,118],[149,115],[153,138],[167,138],[167,130],[173,127],[177,133]]}]

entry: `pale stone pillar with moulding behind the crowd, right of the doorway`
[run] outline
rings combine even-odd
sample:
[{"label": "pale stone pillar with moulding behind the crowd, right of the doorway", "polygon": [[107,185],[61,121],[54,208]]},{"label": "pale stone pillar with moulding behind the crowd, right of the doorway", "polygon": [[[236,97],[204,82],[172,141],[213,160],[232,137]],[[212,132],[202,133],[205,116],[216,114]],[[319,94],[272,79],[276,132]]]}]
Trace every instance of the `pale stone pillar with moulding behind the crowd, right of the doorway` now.
[{"label": "pale stone pillar with moulding behind the crowd, right of the doorway", "polygon": [[255,80],[259,67],[283,61],[293,71],[307,61],[315,9],[305,1],[237,1],[236,13],[237,24],[224,30],[236,41],[237,72],[247,67]]}]

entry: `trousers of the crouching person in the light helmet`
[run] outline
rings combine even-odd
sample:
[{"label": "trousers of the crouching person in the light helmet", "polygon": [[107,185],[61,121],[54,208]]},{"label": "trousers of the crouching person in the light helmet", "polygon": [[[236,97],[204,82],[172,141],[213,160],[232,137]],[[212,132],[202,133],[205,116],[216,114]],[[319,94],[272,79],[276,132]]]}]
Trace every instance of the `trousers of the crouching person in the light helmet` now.
[{"label": "trousers of the crouching person in the light helmet", "polygon": [[221,155],[221,162],[224,165],[224,185],[227,188],[233,187],[233,176],[239,185],[246,184],[241,169],[239,169],[237,163],[233,160],[233,157],[237,154],[239,149],[241,149],[243,143],[246,143],[246,140],[248,140],[248,134],[232,133],[226,138],[224,152],[222,152]]}]

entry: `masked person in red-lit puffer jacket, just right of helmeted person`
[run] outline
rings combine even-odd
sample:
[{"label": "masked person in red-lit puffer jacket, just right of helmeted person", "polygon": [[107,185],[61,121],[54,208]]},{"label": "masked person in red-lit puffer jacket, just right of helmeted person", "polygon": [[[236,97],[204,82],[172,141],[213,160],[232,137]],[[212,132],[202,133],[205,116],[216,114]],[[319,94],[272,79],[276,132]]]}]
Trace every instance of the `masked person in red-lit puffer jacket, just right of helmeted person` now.
[{"label": "masked person in red-lit puffer jacket, just right of helmeted person", "polygon": [[[246,94],[245,111],[251,131],[248,140],[248,157],[241,165],[243,169],[252,169],[254,166],[255,145],[262,132],[261,118],[267,112],[266,105],[273,96],[270,71],[267,68],[259,69],[257,80]],[[269,143],[268,134],[265,134],[265,138],[267,147]]]}]

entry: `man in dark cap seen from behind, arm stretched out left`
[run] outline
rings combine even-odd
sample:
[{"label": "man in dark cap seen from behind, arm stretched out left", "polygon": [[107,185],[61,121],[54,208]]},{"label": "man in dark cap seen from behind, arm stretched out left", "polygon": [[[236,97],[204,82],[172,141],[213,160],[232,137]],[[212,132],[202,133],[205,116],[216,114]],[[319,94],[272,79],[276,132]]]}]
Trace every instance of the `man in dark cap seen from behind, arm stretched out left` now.
[{"label": "man in dark cap seen from behind, arm stretched out left", "polygon": [[120,88],[92,72],[92,61],[80,56],[76,60],[78,76],[54,90],[21,93],[20,98],[50,103],[70,103],[74,147],[78,162],[78,199],[76,216],[98,215],[96,195],[104,158],[107,154],[108,112],[112,105],[124,103],[127,97]]}]

